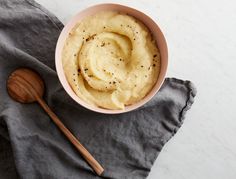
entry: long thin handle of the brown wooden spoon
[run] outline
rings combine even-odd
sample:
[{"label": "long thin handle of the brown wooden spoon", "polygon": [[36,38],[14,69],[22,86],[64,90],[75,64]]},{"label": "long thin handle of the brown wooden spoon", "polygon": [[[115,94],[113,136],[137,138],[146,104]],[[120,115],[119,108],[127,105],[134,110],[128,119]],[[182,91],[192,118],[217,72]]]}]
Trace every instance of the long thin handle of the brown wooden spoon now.
[{"label": "long thin handle of the brown wooden spoon", "polygon": [[45,101],[40,97],[37,97],[37,101],[41,105],[41,107],[46,111],[46,113],[51,117],[51,119],[57,125],[57,127],[65,134],[65,136],[70,140],[70,142],[75,146],[75,148],[79,150],[81,155],[90,164],[93,170],[100,176],[104,171],[102,166],[84,148],[84,146],[76,139],[76,137],[64,126],[64,124],[60,121],[60,119],[56,116],[56,114],[52,112],[52,110],[45,103]]}]

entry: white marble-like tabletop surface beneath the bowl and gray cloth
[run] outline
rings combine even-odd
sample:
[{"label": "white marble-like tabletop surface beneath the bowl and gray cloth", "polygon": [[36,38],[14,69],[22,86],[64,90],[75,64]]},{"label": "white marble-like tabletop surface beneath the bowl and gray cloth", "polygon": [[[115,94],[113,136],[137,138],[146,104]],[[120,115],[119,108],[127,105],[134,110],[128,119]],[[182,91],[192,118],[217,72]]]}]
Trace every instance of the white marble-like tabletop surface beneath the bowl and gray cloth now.
[{"label": "white marble-like tabletop surface beneath the bowl and gray cloth", "polygon": [[102,2],[129,5],[150,15],[167,39],[167,76],[193,81],[198,94],[148,179],[236,178],[235,0],[36,1],[64,24],[76,12]]}]

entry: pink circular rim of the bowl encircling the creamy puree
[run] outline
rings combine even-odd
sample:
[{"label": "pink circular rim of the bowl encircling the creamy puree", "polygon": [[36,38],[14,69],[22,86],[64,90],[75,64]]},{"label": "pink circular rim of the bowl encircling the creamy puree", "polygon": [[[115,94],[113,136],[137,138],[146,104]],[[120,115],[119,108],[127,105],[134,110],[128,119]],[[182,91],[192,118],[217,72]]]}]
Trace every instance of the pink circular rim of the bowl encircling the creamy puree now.
[{"label": "pink circular rim of the bowl encircling the creamy puree", "polygon": [[[128,10],[131,10],[131,11],[135,11],[136,13],[142,15],[144,18],[148,19],[150,21],[150,23],[154,24],[155,26],[155,30],[158,31],[158,35],[160,36],[161,38],[161,41],[162,41],[162,47],[165,51],[165,63],[163,65],[163,60],[162,60],[162,53],[160,52],[160,56],[161,56],[161,67],[160,67],[160,72],[159,72],[159,76],[158,76],[158,79],[157,79],[157,82],[155,83],[155,85],[152,87],[152,89],[148,92],[148,94],[143,98],[141,99],[140,101],[138,101],[137,103],[134,103],[134,104],[131,104],[131,105],[128,105],[128,106],[125,106],[125,109],[118,109],[118,110],[114,110],[114,109],[105,109],[105,108],[101,108],[101,107],[97,107],[97,106],[94,106],[94,105],[90,105],[88,104],[87,102],[83,101],[79,96],[77,96],[75,94],[75,92],[73,91],[73,89],[71,88],[69,82],[67,81],[66,79],[66,76],[65,76],[65,73],[64,73],[64,69],[63,69],[63,66],[62,66],[62,60],[61,60],[61,51],[63,49],[63,46],[64,46],[64,43],[65,43],[65,40],[70,32],[70,30],[74,27],[74,25],[76,25],[80,20],[79,16],[88,12],[88,11],[91,11],[92,9],[94,8],[103,8],[103,7],[106,7],[106,6],[116,6],[116,7],[119,7],[119,8],[124,8],[124,9],[128,9]],[[101,10],[100,10],[101,11]],[[117,10],[117,11],[120,11],[120,10]],[[97,11],[99,12],[99,11]],[[123,11],[125,13],[125,11]],[[92,15],[92,14],[90,14]],[[129,14],[131,16],[133,16],[133,14]],[[88,15],[89,16],[89,15]],[[85,16],[87,17],[87,16]],[[135,16],[134,16],[135,17]],[[84,18],[84,17],[83,17]],[[81,19],[83,19],[81,18]],[[136,18],[136,17],[135,17]],[[140,20],[139,18],[137,18],[138,20]],[[142,23],[146,25],[145,22],[143,22],[142,20],[140,20]],[[153,34],[153,30],[150,29],[148,26],[147,28],[149,29],[149,31]],[[156,37],[155,37],[155,40],[156,40]],[[156,41],[157,43],[157,46],[158,46],[158,42]],[[159,47],[158,47],[159,48]],[[159,49],[160,51],[160,49]],[[98,113],[103,113],[103,114],[120,114],[120,113],[126,113],[126,112],[129,112],[129,111],[132,111],[132,110],[135,110],[141,106],[143,106],[144,104],[146,104],[148,101],[150,101],[155,95],[156,93],[159,91],[159,89],[161,88],[164,80],[165,80],[165,76],[166,76],[166,72],[167,72],[167,67],[168,67],[168,47],[167,47],[167,43],[166,43],[166,39],[160,29],[160,27],[157,25],[157,23],[151,18],[149,17],[148,15],[146,15],[145,13],[141,12],[140,10],[137,10],[135,8],[132,8],[132,7],[129,7],[129,6],[126,6],[126,5],[122,5],[122,4],[117,4],[117,3],[100,3],[100,4],[95,4],[95,5],[92,5],[92,6],[89,6],[81,11],[79,11],[78,13],[76,13],[69,21],[68,23],[64,26],[64,28],[62,29],[60,35],[59,35],[59,38],[57,40],[57,44],[56,44],[56,51],[55,51],[55,66],[56,66],[56,71],[57,71],[57,75],[58,75],[58,78],[59,78],[59,81],[60,83],[62,84],[64,90],[67,92],[67,94],[74,100],[76,101],[78,104],[80,104],[81,106],[91,110],[91,111],[94,111],[94,112],[98,112]]]}]

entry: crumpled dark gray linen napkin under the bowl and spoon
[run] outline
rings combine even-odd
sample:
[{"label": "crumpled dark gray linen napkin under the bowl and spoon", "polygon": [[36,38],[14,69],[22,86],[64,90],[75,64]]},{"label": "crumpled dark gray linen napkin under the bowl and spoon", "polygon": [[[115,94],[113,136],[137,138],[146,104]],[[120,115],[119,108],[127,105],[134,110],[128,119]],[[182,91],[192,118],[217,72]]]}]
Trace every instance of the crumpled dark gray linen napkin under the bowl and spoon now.
[{"label": "crumpled dark gray linen napkin under the bowl and spoon", "polygon": [[62,28],[34,1],[0,1],[1,178],[100,178],[38,104],[20,104],[8,96],[6,80],[22,66],[45,80],[44,99],[105,168],[101,178],[146,178],[193,103],[193,84],[168,78],[158,94],[135,111],[91,112],[76,104],[58,81],[54,50]]}]

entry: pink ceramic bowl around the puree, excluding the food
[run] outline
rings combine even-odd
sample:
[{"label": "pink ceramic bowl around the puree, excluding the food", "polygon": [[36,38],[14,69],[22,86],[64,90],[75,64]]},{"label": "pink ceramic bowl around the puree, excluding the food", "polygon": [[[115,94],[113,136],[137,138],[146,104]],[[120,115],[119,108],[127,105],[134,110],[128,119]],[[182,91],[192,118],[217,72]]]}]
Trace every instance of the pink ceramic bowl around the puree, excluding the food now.
[{"label": "pink ceramic bowl around the puree, excluding the food", "polygon": [[[95,107],[95,106],[91,106],[91,105],[87,104],[85,101],[83,101],[78,96],[76,96],[76,94],[74,93],[74,91],[72,90],[72,88],[70,87],[69,83],[66,80],[66,76],[64,74],[63,67],[62,67],[61,53],[62,53],[63,46],[65,44],[66,38],[67,38],[69,32],[71,31],[71,29],[83,18],[93,15],[99,11],[106,11],[106,10],[114,10],[114,11],[128,13],[129,15],[131,15],[131,16],[139,19],[141,22],[143,22],[149,28],[149,30],[152,32],[152,35],[156,40],[157,46],[158,46],[158,48],[160,50],[160,54],[161,54],[160,74],[159,74],[158,80],[157,80],[155,86],[153,87],[153,89],[141,101],[139,101],[135,104],[126,106],[125,109],[123,109],[123,110],[103,109],[103,108],[99,108],[99,107]],[[133,8],[130,8],[127,6],[123,6],[123,5],[119,5],[119,4],[99,4],[99,5],[89,7],[87,9],[79,12],[64,27],[64,29],[62,30],[62,32],[59,36],[58,42],[57,42],[55,60],[56,60],[57,74],[58,74],[58,77],[59,77],[59,80],[60,80],[62,86],[64,87],[66,92],[77,103],[79,103],[80,105],[82,105],[85,108],[90,109],[92,111],[106,113],[106,114],[118,114],[118,113],[124,113],[124,112],[128,112],[128,111],[137,109],[138,107],[147,103],[157,93],[157,91],[160,89],[160,87],[165,79],[167,65],[168,65],[168,50],[167,50],[165,37],[162,34],[160,28],[147,15],[145,15],[144,13],[142,13],[136,9],[133,9]]]}]

